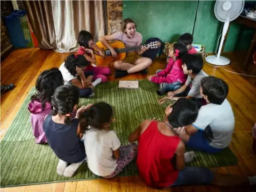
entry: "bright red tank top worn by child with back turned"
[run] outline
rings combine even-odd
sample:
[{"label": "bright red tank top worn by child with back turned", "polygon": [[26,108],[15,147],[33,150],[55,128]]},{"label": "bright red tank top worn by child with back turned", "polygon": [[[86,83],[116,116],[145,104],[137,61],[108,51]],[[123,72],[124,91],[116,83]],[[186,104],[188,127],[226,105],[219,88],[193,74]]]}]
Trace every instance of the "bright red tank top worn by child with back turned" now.
[{"label": "bright red tank top worn by child with back turned", "polygon": [[[165,135],[158,127],[162,122],[151,121],[139,137],[137,165],[142,180],[154,188],[174,183],[178,170],[173,166],[174,157],[181,139],[176,135]],[[170,132],[171,134],[171,132]]]}]

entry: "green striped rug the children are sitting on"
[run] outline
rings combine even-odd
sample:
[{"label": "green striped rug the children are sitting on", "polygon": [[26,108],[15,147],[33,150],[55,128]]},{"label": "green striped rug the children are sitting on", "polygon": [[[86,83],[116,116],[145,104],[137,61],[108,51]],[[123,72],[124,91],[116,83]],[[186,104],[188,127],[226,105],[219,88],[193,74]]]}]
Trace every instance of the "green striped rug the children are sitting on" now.
[{"label": "green striped rug the children are sitting on", "polygon": [[[80,99],[79,105],[105,101],[113,106],[112,129],[116,131],[122,144],[144,119],[162,119],[165,107],[158,104],[158,87],[148,80],[140,81],[140,89],[118,89],[118,82],[100,84],[96,96]],[[72,178],[56,173],[58,159],[47,144],[36,144],[32,135],[28,103],[35,88],[15,117],[6,136],[1,142],[1,186],[30,185],[48,182],[85,180],[99,178],[83,163]],[[197,158],[189,166],[219,167],[237,164],[237,159],[229,148],[219,154],[196,152]],[[135,161],[128,165],[119,176],[138,174]]]}]

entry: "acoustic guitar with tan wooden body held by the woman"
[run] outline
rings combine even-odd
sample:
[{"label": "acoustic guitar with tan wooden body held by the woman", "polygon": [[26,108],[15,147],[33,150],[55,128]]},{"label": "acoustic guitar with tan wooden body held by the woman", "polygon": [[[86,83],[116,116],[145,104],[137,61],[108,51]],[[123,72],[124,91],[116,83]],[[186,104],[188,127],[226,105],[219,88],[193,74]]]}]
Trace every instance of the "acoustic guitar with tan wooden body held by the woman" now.
[{"label": "acoustic guitar with tan wooden body held by the woman", "polygon": [[[100,66],[108,66],[112,61],[115,61],[115,59],[112,58],[112,54],[110,50],[105,47],[101,42],[97,42],[96,45],[103,50],[104,57],[95,55],[96,58],[96,65]],[[123,60],[126,57],[127,52],[133,52],[138,51],[142,49],[142,46],[148,47],[149,49],[156,49],[159,46],[161,46],[161,43],[158,41],[151,42],[146,45],[140,45],[140,46],[133,46],[133,47],[125,47],[125,45],[121,41],[116,41],[113,43],[109,43],[109,45],[114,48],[115,52],[117,53],[117,59],[116,60]]]}]

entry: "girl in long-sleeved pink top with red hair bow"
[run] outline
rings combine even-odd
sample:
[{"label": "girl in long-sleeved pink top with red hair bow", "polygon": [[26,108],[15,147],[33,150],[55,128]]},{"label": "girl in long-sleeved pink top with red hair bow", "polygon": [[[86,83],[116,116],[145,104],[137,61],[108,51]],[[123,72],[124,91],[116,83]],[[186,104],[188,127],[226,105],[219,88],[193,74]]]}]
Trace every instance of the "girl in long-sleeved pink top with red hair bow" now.
[{"label": "girl in long-sleeved pink top with red hair bow", "polygon": [[153,83],[160,84],[159,95],[163,95],[168,91],[173,91],[181,87],[186,82],[187,75],[182,70],[182,56],[187,53],[186,45],[175,43],[169,50],[170,57],[167,67],[162,71],[157,71],[154,76],[149,76],[148,80]]}]

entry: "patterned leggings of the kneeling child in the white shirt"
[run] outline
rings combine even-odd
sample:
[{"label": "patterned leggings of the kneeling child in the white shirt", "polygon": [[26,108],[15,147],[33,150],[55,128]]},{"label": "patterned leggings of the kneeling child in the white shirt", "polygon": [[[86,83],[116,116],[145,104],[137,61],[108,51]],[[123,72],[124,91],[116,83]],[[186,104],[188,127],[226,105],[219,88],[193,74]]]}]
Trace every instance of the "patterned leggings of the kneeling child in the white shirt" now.
[{"label": "patterned leggings of the kneeling child in the white shirt", "polygon": [[104,176],[104,178],[113,178],[115,175],[121,172],[127,164],[132,162],[136,158],[136,155],[137,155],[136,143],[130,143],[125,146],[120,146],[120,157],[116,161],[117,166],[115,167],[114,172],[112,172],[108,176]]}]

